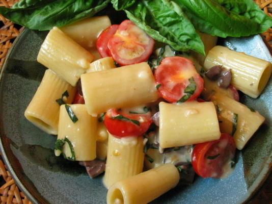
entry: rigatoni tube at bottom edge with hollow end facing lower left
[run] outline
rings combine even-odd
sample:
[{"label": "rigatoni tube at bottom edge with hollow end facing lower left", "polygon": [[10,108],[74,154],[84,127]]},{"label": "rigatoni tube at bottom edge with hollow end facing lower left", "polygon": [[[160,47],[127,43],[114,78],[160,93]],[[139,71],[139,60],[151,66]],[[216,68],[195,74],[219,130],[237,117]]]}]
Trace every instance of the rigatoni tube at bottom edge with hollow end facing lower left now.
[{"label": "rigatoni tube at bottom edge with hollow end facing lower left", "polygon": [[146,204],[174,188],[179,172],[173,164],[162,164],[115,183],[107,192],[107,204]]}]

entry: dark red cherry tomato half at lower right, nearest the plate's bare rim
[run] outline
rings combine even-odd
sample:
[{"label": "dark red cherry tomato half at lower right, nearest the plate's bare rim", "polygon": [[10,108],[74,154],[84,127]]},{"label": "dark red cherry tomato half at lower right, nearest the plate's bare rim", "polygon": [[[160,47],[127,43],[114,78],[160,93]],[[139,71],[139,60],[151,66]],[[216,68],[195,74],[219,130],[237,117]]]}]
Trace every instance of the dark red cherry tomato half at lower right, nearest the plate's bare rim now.
[{"label": "dark red cherry tomato half at lower right, nearest the plate's bare rim", "polygon": [[195,172],[203,178],[220,179],[224,164],[235,155],[235,148],[233,137],[225,133],[219,140],[196,144],[192,153]]}]

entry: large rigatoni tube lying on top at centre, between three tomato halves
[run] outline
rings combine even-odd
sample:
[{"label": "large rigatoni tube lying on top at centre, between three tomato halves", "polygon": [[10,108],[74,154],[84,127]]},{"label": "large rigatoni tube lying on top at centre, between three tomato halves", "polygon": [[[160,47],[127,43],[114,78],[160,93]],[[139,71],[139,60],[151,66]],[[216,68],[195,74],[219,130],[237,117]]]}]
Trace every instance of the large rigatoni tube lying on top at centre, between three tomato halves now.
[{"label": "large rigatoni tube lying on top at centre, between three tomato halves", "polygon": [[154,102],[155,80],[146,62],[81,75],[88,113],[97,115],[110,108],[126,108]]}]

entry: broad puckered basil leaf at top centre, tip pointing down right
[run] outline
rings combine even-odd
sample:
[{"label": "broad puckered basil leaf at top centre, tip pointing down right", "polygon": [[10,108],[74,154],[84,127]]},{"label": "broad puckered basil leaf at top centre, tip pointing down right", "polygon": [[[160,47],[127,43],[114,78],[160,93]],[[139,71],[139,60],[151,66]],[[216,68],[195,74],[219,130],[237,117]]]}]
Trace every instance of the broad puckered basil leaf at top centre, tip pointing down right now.
[{"label": "broad puckered basil leaf at top centre, tip pointing down right", "polygon": [[205,55],[204,45],[180,7],[168,0],[139,0],[125,10],[127,17],[157,41],[176,50]]}]

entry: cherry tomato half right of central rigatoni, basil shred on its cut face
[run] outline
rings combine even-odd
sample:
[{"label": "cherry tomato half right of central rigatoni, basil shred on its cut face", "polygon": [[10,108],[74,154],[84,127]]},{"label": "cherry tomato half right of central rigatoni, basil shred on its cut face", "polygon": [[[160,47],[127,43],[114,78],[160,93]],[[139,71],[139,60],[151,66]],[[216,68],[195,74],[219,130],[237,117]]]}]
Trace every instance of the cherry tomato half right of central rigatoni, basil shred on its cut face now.
[{"label": "cherry tomato half right of central rigatoni, basil shred on its cut face", "polygon": [[204,80],[194,63],[183,57],[167,57],[155,70],[161,96],[170,103],[196,99],[204,88]]}]

